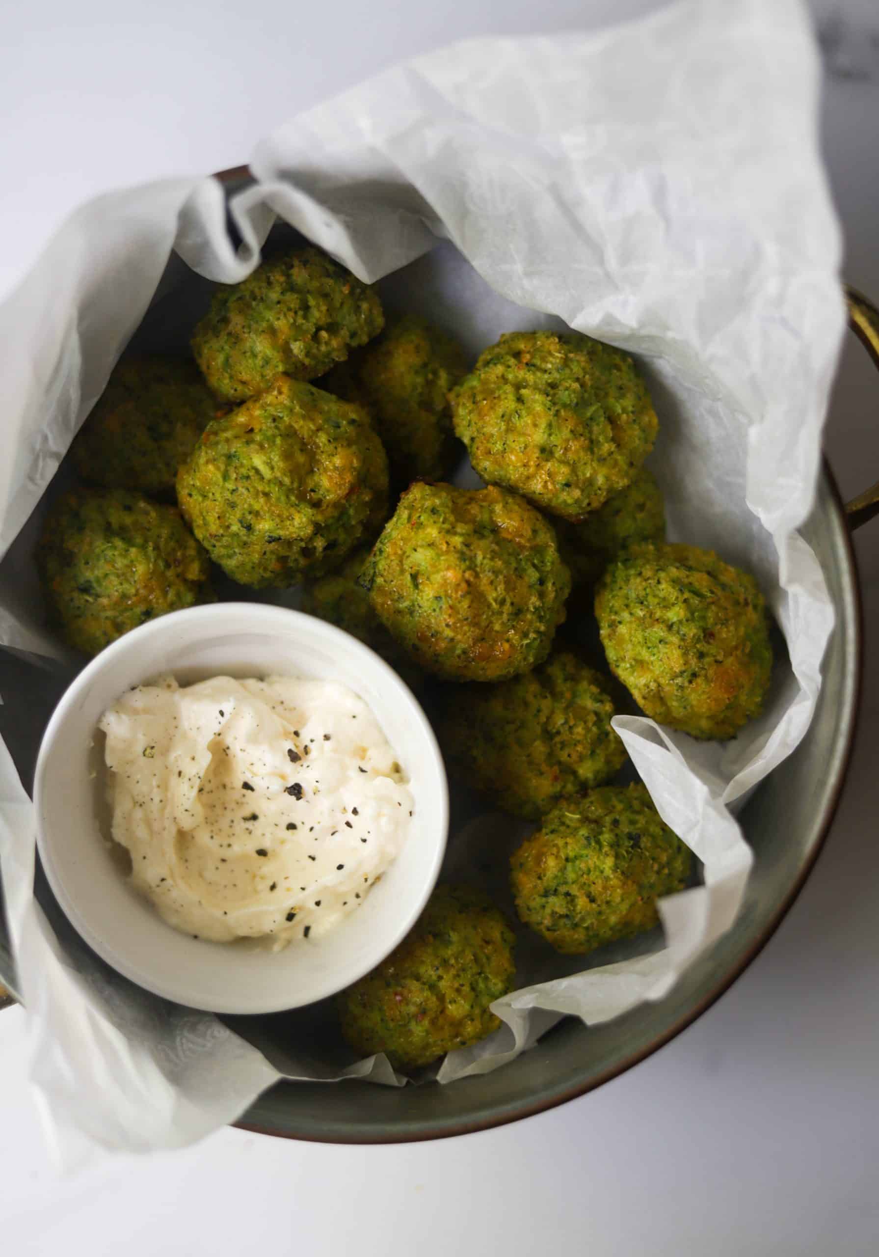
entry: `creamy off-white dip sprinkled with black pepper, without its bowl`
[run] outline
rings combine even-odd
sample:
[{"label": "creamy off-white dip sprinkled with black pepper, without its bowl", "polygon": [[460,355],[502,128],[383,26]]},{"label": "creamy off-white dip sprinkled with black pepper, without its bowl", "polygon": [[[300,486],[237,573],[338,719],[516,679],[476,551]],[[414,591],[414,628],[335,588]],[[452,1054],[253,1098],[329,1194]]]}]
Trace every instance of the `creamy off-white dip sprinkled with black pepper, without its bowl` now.
[{"label": "creamy off-white dip sprinkled with black pepper, without its bowl", "polygon": [[173,678],[104,713],[113,838],[171,925],[316,938],[398,855],[414,803],[365,703],[334,681]]}]

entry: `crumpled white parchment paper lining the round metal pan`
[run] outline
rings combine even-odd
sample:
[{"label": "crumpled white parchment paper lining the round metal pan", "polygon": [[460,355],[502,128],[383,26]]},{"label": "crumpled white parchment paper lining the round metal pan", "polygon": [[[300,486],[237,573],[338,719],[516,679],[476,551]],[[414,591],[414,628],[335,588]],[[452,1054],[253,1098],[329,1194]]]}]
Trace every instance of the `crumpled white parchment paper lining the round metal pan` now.
[{"label": "crumpled white parchment paper lining the round metal pan", "polygon": [[[285,123],[231,216],[210,178],[102,196],[0,308],[0,644],[64,659],[41,623],[28,519],[159,287],[181,263],[231,283],[275,216],[476,352],[560,326],[639,357],[662,430],[652,466],[671,537],[753,569],[787,642],[765,714],[728,744],[642,716],[617,728],[704,885],[661,904],[664,944],[613,964],[521,955],[505,1024],[452,1053],[447,1082],[496,1068],[558,1016],[588,1023],[659,999],[735,919],[752,862],[745,793],[802,738],[833,610],[796,528],[809,513],[844,329],[840,238],[817,152],[817,58],[797,0],[688,0],[599,34],[473,40],[421,57]],[[441,243],[443,241],[443,243]],[[404,268],[401,270],[401,268]],[[394,274],[396,273],[396,274]],[[164,278],[163,278],[164,277]],[[18,539],[16,539],[18,538]],[[452,866],[488,817],[453,836]],[[473,830],[476,826],[476,830]],[[31,1077],[64,1155],[186,1144],[278,1077],[369,1076],[270,1053],[117,977],[33,895],[34,817],[0,750],[0,855]],[[559,975],[563,974],[563,975]]]}]

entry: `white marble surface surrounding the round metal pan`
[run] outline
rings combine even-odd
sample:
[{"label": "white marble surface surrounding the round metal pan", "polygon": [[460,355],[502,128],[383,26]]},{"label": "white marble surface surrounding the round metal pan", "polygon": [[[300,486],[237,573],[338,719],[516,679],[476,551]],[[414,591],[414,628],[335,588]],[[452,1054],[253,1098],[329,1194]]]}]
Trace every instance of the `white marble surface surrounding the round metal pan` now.
[{"label": "white marble surface surrounding the round metal pan", "polygon": [[[652,6],[0,0],[0,292],[84,196],[237,165],[267,121],[399,57],[467,34],[591,25]],[[846,278],[875,297],[879,9],[815,0],[814,10],[833,69],[824,133]],[[879,380],[855,344],[828,451],[846,497],[879,476]],[[499,1131],[343,1149],[226,1130],[183,1153],[60,1180],[24,1084],[15,1008],[0,1014],[3,1252],[879,1251],[879,520],[856,548],[866,674],[836,823],[774,940],[693,1027],[598,1092]]]}]

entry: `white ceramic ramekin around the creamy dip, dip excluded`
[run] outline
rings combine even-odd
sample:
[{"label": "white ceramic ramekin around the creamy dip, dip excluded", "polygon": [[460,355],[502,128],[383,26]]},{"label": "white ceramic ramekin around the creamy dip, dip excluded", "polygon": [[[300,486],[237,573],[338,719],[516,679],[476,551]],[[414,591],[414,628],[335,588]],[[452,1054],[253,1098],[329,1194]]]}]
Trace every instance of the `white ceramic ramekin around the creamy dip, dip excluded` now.
[{"label": "white ceramic ramekin around the creamy dip, dip excluded", "polygon": [[[314,676],[355,690],[378,718],[416,798],[401,855],[363,906],[326,935],[270,953],[207,943],[167,925],[121,874],[108,843],[98,720],[126,689],[163,674]],[[323,999],[377,965],[412,928],[440,872],[448,828],[442,755],[421,706],[372,650],[333,625],[281,607],[218,602],[163,616],[103,650],[64,694],[34,783],[38,847],[79,934],[156,994],[222,1013],[270,1013]]]}]

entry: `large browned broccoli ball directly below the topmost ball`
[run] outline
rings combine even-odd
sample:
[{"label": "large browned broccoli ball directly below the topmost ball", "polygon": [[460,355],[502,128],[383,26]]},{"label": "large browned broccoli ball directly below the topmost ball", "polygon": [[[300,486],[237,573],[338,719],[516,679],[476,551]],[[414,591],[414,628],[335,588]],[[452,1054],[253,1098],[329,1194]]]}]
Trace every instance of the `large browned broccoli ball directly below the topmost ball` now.
[{"label": "large browned broccoli ball directly below the topmost ball", "polygon": [[388,464],[359,406],[279,376],[215,419],[177,498],[215,563],[254,588],[338,564],[387,517]]}]

